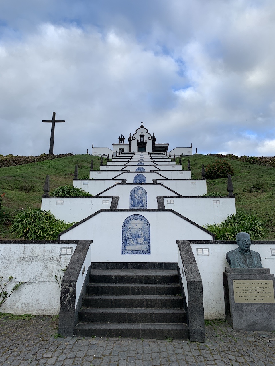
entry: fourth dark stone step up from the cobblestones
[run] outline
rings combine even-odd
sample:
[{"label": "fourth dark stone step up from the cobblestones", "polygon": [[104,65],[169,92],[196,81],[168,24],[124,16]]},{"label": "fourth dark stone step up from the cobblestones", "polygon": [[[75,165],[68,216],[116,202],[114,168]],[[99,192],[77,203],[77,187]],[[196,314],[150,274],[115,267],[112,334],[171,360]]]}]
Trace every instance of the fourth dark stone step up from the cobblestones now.
[{"label": "fourth dark stone step up from the cobblestones", "polygon": [[179,295],[179,284],[92,284],[86,287],[86,294],[93,295]]}]

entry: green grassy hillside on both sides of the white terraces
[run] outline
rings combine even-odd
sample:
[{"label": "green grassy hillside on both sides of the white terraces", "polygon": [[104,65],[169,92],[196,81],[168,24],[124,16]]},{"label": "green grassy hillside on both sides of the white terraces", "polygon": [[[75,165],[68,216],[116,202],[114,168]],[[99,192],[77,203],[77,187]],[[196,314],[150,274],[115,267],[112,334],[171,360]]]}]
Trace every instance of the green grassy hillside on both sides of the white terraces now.
[{"label": "green grassy hillside on both sides of the white terraces", "polygon": [[[0,168],[0,194],[5,193],[3,205],[11,214],[17,210],[39,208],[45,177],[49,174],[50,189],[73,183],[75,164],[78,164],[78,178],[89,175],[90,155],[75,155],[54,160],[41,161],[15,167]],[[93,157],[94,169],[99,169],[100,158]],[[201,178],[202,164],[208,165],[217,158],[196,154],[190,157],[191,170],[194,178]],[[177,163],[179,159],[177,158]],[[275,201],[275,168],[249,164],[241,161],[228,160],[235,169],[232,177],[234,194],[236,195],[237,213],[253,212],[264,221],[263,239],[275,240],[274,201]],[[106,161],[104,161],[106,164]],[[182,159],[183,169],[187,169],[187,158]],[[253,188],[260,179],[263,189]],[[29,192],[29,189],[31,190]],[[219,192],[227,195],[227,179],[207,181],[208,192]],[[12,238],[7,231],[0,230],[0,239]]]}]

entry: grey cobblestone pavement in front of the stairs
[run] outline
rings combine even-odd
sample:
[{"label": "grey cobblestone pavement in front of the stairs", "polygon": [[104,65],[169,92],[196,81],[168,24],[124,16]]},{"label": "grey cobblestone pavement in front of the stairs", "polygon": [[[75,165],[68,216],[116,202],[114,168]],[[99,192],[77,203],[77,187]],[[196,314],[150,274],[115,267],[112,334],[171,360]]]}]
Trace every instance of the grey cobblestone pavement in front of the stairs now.
[{"label": "grey cobblestone pavement in front of the stairs", "polygon": [[0,365],[204,366],[275,365],[275,333],[232,330],[225,321],[206,322],[206,342],[55,338],[57,319],[0,317]]}]

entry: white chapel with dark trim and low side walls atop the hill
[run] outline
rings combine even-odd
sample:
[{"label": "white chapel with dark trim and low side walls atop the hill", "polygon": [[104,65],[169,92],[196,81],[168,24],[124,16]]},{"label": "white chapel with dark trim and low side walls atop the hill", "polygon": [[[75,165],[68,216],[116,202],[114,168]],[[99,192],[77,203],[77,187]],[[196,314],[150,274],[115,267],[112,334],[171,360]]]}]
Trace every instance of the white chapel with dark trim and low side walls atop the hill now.
[{"label": "white chapel with dark trim and low side walls atop the hill", "polygon": [[[169,143],[156,142],[155,134],[151,135],[147,128],[143,126],[143,122],[140,127],[136,129],[136,132],[128,137],[128,143],[125,143],[125,137],[120,136],[118,143],[113,143],[113,150],[109,147],[94,147],[92,146],[92,155],[98,156],[111,156],[113,153],[136,153],[136,152],[148,152],[148,153],[166,153],[169,152]],[[175,156],[180,155],[192,155],[192,144],[188,147],[175,147],[170,150],[170,153]]]}]

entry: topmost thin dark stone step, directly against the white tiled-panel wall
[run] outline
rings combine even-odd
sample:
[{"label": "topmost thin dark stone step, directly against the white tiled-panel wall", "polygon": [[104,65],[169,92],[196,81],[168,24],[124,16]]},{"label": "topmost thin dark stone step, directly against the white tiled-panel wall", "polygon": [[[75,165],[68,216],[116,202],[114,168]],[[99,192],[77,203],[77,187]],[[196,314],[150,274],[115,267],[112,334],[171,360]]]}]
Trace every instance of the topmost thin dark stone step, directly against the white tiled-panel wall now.
[{"label": "topmost thin dark stone step, directly against the white tiled-panel wall", "polygon": [[177,270],[177,263],[128,263],[128,262],[92,262],[91,269],[174,269]]}]

